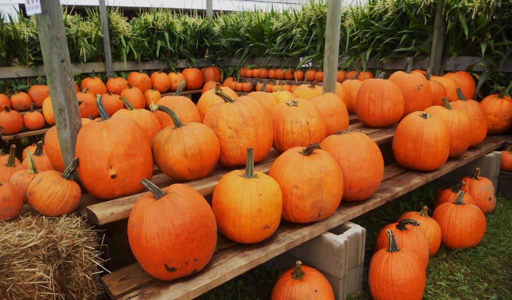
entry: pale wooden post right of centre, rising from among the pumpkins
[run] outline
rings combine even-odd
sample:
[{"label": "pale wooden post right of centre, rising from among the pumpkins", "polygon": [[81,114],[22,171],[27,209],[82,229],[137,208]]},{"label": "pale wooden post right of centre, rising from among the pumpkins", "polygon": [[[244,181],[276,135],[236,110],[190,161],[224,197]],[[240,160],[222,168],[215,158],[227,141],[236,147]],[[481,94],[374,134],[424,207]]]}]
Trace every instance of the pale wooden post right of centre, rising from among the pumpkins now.
[{"label": "pale wooden post right of centre, rising from among the pumpkins", "polygon": [[323,92],[336,93],[339,57],[339,30],[342,24],[342,0],[331,0],[327,8]]}]

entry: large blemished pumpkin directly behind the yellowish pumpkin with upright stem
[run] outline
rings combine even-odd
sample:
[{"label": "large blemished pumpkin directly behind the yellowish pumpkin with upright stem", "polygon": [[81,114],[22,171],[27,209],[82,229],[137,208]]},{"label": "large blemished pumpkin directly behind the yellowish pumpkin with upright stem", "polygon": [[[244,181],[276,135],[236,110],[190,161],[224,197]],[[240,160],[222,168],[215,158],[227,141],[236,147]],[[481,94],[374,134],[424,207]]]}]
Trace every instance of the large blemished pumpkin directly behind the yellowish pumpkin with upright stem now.
[{"label": "large blemished pumpkin directly behind the yellowish pumpkin with upright stem", "polygon": [[227,167],[244,165],[246,149],[250,147],[254,149],[254,162],[263,160],[270,152],[273,140],[272,120],[265,107],[251,97],[231,99],[222,92],[215,93],[225,102],[212,106],[203,124],[219,139],[219,164]]}]

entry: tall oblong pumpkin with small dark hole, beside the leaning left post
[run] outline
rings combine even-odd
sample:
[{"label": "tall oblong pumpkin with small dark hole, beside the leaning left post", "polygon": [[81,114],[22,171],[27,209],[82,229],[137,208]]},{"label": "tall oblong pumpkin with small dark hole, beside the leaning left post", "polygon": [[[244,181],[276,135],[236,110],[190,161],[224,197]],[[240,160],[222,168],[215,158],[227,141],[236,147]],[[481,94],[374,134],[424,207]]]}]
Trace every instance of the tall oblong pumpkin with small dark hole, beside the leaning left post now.
[{"label": "tall oblong pumpkin with small dark hole, beside the leaning left post", "polygon": [[[129,117],[110,118],[97,96],[101,121],[84,125],[76,138],[78,176],[95,197],[116,199],[140,192],[142,178],[151,179],[151,145]],[[49,149],[48,149],[49,150]]]}]

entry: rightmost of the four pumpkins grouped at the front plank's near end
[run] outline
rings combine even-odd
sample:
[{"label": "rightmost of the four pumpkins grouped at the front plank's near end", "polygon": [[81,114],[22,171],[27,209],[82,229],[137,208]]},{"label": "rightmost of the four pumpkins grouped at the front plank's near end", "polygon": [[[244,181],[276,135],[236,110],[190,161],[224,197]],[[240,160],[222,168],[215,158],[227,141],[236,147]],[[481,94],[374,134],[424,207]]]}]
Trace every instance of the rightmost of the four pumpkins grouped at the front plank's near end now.
[{"label": "rightmost of the four pumpkins grouped at the front plank's near end", "polygon": [[343,200],[360,201],[374,194],[382,181],[384,160],[369,136],[340,131],[326,137],[322,147],[342,169]]}]

